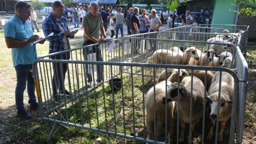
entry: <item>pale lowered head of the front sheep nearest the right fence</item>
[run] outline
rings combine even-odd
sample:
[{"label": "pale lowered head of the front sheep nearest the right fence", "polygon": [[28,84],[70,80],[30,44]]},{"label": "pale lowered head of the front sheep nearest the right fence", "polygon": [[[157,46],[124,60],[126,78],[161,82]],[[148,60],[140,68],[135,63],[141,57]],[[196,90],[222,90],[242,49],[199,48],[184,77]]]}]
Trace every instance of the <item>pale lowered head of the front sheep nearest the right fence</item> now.
[{"label": "pale lowered head of the front sheep nearest the right fence", "polygon": [[[216,120],[217,119],[217,114],[218,114],[218,98],[219,98],[219,94],[212,94],[212,95],[208,95],[207,96],[207,100],[210,103],[210,109],[211,109],[211,113],[210,113],[210,118],[212,120]],[[225,107],[227,105],[227,103],[232,104],[232,101],[226,97],[224,97],[224,95],[220,94],[220,105],[219,105],[219,114],[221,113],[223,107]]]}]

